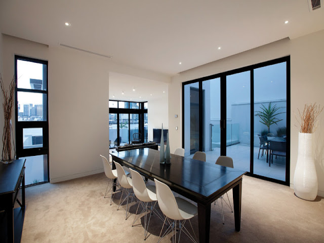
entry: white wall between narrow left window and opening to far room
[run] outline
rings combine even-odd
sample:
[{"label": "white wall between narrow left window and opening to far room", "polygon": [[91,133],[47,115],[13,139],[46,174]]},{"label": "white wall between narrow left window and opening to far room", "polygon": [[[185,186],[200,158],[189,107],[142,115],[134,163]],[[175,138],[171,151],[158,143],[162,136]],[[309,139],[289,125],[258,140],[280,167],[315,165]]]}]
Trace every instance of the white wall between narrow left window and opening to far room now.
[{"label": "white wall between narrow left window and opening to far room", "polygon": [[[103,172],[99,154],[108,156],[109,72],[119,72],[168,83],[170,77],[121,66],[111,60],[63,47],[48,47],[3,36],[4,80],[14,74],[15,54],[49,61],[50,182]],[[1,43],[0,43],[1,44]],[[154,103],[154,102],[153,102]],[[151,108],[168,124],[168,99]],[[155,114],[152,115],[152,117]],[[13,114],[13,119],[14,119]],[[157,123],[157,121],[153,122]],[[158,122],[159,123],[159,122]]]}]

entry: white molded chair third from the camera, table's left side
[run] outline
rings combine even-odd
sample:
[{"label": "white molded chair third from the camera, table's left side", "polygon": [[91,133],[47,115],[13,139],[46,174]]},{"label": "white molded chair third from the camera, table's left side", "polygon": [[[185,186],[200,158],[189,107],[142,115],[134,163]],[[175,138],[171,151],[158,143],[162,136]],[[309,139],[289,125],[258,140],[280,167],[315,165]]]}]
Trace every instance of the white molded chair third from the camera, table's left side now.
[{"label": "white molded chair third from the camera, table's left side", "polygon": [[[126,173],[125,173],[123,167],[119,163],[117,163],[117,162],[114,162],[114,163],[115,163],[116,170],[117,170],[117,178],[118,178],[119,185],[123,188],[123,192],[121,192],[121,196],[120,196],[120,200],[119,200],[117,210],[119,210],[119,206],[121,204],[123,204],[125,200],[127,200],[127,203],[126,203],[126,219],[128,219],[128,216],[129,216],[128,215],[128,200],[129,200],[130,197],[133,196],[132,195],[132,188],[133,188],[132,178],[126,176]],[[126,197],[120,203],[121,198],[123,198],[124,191],[126,191]]]}]

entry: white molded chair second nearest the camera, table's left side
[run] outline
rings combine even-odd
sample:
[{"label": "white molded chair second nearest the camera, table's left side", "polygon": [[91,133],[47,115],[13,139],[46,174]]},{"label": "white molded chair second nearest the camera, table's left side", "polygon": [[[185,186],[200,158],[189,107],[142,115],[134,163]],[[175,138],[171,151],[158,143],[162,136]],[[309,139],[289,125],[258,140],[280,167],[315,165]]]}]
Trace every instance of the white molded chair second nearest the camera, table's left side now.
[{"label": "white molded chair second nearest the camera, table's left side", "polygon": [[[144,240],[146,240],[147,233],[148,233],[147,229],[148,229],[148,225],[150,223],[152,213],[155,213],[162,221],[163,221],[163,219],[154,210],[156,202],[157,202],[155,186],[153,186],[153,185],[146,186],[142,176],[137,171],[134,171],[132,169],[130,169],[130,171],[131,171],[131,175],[132,175],[133,191],[134,191],[135,196],[139,199],[139,204],[137,206],[136,215],[137,215],[139,206],[141,205],[143,208],[141,213],[138,214],[137,217],[134,218],[132,227],[134,226],[135,221],[137,219],[139,219],[139,217],[143,213],[145,213],[144,214]],[[150,203],[150,206],[149,206],[149,203]],[[147,220],[146,212],[148,212],[148,211],[150,213],[149,213],[149,217]]]}]

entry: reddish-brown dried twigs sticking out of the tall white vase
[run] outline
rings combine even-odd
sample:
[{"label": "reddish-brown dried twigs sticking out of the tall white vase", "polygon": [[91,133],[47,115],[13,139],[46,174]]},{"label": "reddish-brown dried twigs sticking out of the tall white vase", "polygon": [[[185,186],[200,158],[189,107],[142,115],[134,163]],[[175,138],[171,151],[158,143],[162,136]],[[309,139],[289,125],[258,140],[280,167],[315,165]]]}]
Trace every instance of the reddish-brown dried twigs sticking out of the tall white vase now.
[{"label": "reddish-brown dried twigs sticking out of the tall white vase", "polygon": [[301,133],[313,133],[316,130],[317,117],[322,112],[323,107],[317,106],[316,103],[304,106],[304,110],[301,113],[298,109],[301,123],[297,119],[300,125]]}]

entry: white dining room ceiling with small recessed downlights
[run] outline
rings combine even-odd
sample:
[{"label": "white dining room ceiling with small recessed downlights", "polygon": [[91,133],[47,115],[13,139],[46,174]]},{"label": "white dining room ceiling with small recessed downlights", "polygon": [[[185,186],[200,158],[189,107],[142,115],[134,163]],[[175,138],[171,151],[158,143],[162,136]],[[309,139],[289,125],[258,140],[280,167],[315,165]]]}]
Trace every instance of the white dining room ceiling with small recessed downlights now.
[{"label": "white dining room ceiling with small recessed downlights", "polygon": [[174,75],[324,29],[323,8],[309,11],[307,0],[0,0],[0,28]]}]

